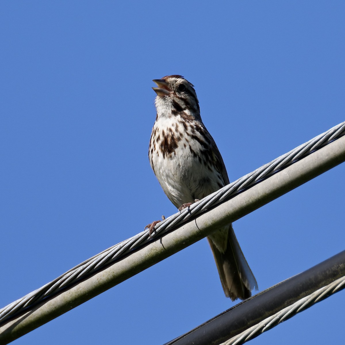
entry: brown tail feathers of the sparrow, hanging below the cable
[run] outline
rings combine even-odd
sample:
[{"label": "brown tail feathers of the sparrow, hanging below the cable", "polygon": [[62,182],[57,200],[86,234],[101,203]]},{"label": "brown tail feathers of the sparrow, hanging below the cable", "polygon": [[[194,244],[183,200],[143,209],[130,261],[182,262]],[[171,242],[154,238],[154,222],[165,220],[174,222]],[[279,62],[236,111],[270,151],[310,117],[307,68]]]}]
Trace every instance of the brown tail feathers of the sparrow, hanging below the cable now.
[{"label": "brown tail feathers of the sparrow, hanging below the cable", "polygon": [[[222,230],[220,231],[224,234]],[[226,297],[230,297],[231,300],[246,299],[252,296],[254,288],[258,289],[257,282],[238,244],[231,224],[227,232],[225,245],[218,245],[215,241],[216,238],[219,238],[217,233],[216,236],[211,235],[207,239],[216,261]]]}]

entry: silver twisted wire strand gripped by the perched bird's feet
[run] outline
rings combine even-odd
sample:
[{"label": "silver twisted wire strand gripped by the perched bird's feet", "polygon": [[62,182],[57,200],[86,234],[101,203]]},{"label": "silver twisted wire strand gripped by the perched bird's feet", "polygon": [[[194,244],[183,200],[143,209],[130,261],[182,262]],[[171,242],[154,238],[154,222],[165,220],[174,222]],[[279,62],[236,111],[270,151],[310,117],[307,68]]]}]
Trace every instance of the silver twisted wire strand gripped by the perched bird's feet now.
[{"label": "silver twisted wire strand gripped by the perched bird's feet", "polygon": [[287,152],[285,155],[274,159],[253,172],[239,178],[233,183],[230,183],[229,185],[219,189],[215,193],[210,194],[206,198],[194,203],[181,212],[162,220],[155,226],[155,231],[151,237],[149,237],[148,231],[142,231],[141,233],[85,260],[48,284],[10,303],[6,307],[1,308],[0,324],[6,322],[7,319],[13,317],[14,315],[22,313],[24,310],[28,309],[34,304],[53,297],[62,289],[75,285],[78,281],[81,281],[82,279],[99,272],[101,269],[130,254],[130,252],[145,246],[151,240],[161,237],[166,232],[177,228],[186,221],[196,218],[216,205],[233,198],[243,190],[252,187],[261,180],[272,176],[277,171],[286,168],[295,161],[306,157],[315,150],[326,146],[331,141],[334,141],[344,135],[345,122],[342,122],[323,134],[320,134],[317,137],[307,141],[305,144],[302,144]]}]

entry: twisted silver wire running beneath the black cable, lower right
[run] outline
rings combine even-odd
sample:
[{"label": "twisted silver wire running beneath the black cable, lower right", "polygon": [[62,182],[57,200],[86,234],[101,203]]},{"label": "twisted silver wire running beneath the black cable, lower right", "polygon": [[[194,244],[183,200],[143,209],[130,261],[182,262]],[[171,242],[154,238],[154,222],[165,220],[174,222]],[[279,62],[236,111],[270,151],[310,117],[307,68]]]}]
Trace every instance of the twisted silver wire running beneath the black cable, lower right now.
[{"label": "twisted silver wire running beneath the black cable, lower right", "polygon": [[331,296],[332,294],[345,288],[345,277],[334,280],[334,282],[316,290],[312,294],[303,297],[295,303],[287,306],[279,312],[265,318],[263,321],[246,329],[244,332],[230,338],[220,345],[241,345],[245,342],[252,340],[258,335],[268,331],[269,329],[277,326],[278,324],[286,321],[290,317],[295,316],[297,313],[304,311],[317,302]]}]

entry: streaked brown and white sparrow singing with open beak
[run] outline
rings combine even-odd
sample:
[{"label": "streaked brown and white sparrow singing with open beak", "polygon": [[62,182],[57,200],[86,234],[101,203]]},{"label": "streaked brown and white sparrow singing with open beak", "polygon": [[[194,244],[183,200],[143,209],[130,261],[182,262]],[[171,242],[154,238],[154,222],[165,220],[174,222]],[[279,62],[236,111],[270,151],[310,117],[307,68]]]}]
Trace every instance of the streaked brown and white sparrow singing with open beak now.
[{"label": "streaked brown and white sparrow singing with open beak", "polygon": [[[153,80],[157,117],[149,146],[151,167],[170,201],[181,209],[229,183],[215,141],[200,117],[193,85],[179,75]],[[150,231],[156,225],[150,226]],[[232,225],[208,236],[225,295],[245,299],[257,283]]]}]

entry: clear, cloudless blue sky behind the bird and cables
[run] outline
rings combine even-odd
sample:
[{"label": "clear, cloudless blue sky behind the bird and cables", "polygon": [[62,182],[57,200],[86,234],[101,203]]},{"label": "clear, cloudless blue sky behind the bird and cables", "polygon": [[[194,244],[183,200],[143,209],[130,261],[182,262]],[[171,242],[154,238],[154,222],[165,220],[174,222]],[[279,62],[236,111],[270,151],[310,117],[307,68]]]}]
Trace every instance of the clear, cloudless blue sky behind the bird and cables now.
[{"label": "clear, cloudless blue sky behind the bird and cables", "polygon": [[[343,1],[1,4],[0,306],[175,213],[147,157],[181,74],[231,181],[344,121]],[[344,250],[345,165],[234,223],[264,290]],[[343,341],[344,292],[251,344]],[[206,239],[14,344],[163,344],[233,306]]]}]

